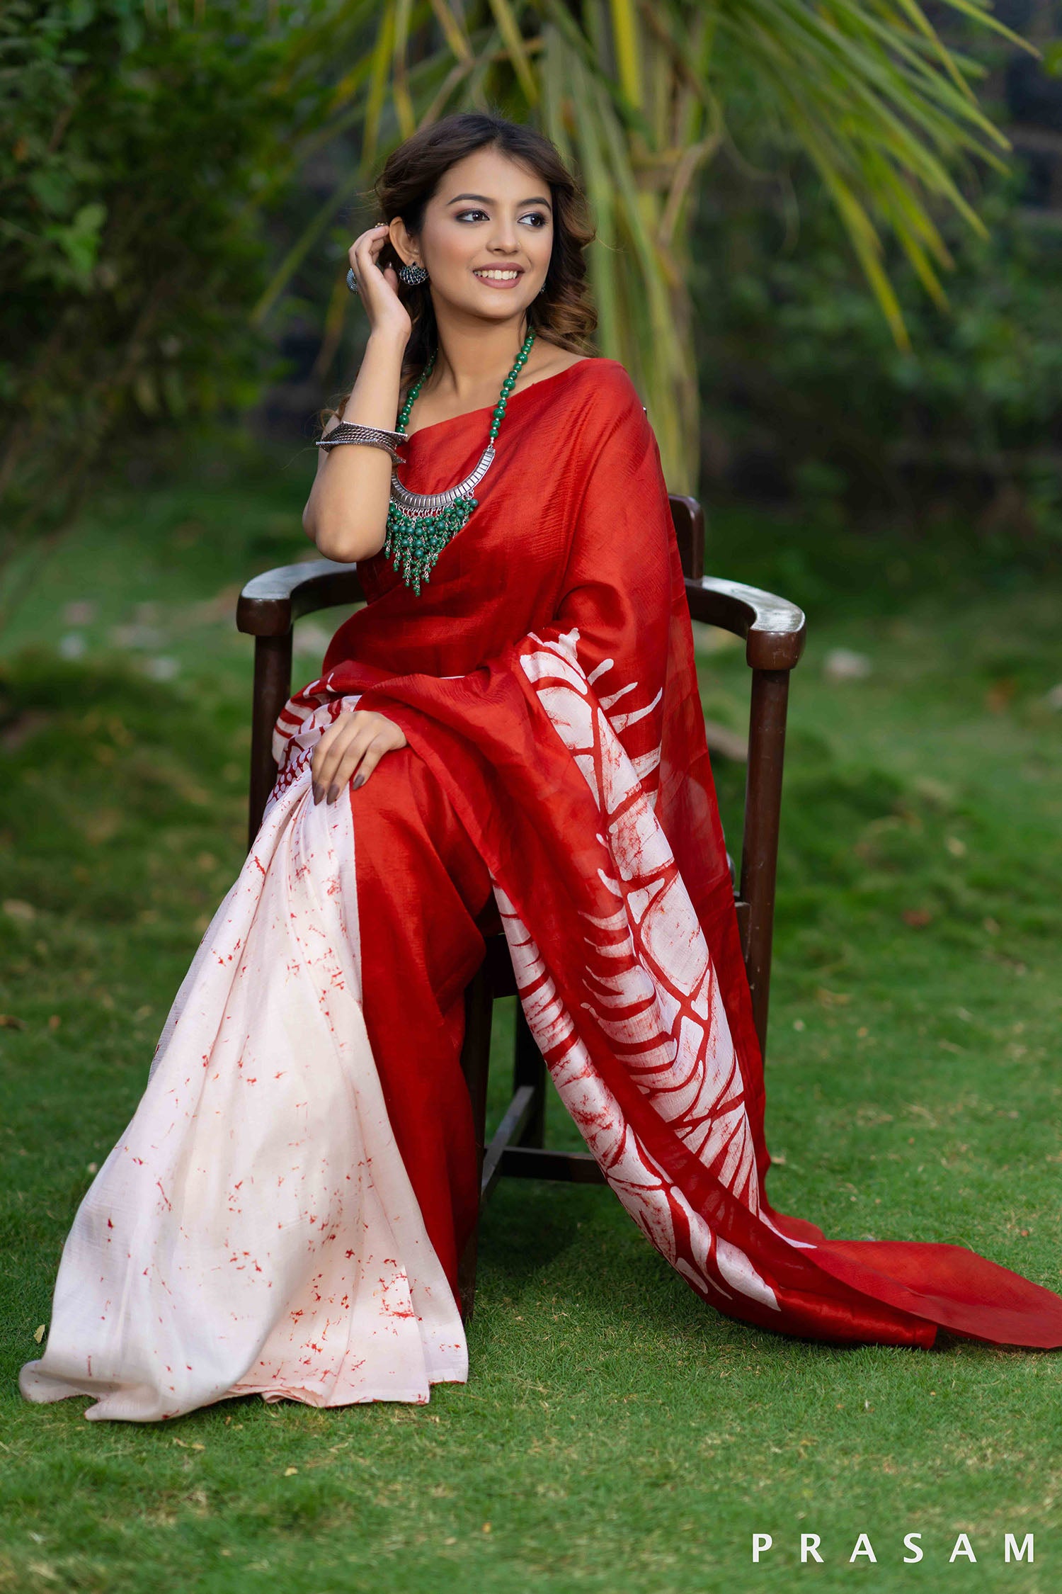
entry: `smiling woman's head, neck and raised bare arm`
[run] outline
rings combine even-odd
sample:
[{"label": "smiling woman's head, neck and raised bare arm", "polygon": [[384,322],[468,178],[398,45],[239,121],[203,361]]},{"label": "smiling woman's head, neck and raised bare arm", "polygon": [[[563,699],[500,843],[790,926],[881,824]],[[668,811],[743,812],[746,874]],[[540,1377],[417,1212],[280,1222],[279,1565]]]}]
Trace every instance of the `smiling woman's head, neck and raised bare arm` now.
[{"label": "smiling woman's head, neck and raised bare arm", "polygon": [[[462,134],[459,123],[476,131]],[[447,118],[390,156],[376,191],[392,220],[350,249],[368,346],[325,443],[341,424],[392,427],[411,395],[416,430],[492,405],[497,421],[510,394],[591,352],[584,249],[594,233],[583,196],[538,134],[500,118]],[[403,408],[400,426],[408,418]],[[371,556],[387,537],[390,464],[371,448],[326,453],[306,532],[330,558]]]}]

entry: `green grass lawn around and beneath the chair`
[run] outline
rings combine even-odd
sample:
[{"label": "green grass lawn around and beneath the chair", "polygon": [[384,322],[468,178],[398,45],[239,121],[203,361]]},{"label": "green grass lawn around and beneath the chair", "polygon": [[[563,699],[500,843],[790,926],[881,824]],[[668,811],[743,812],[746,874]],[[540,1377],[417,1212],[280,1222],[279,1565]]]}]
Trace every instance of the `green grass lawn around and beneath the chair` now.
[{"label": "green grass lawn around and beneath the chair", "polygon": [[[309,552],[310,469],[193,461],[189,486],[100,497],[0,639],[0,1594],[1062,1588],[1059,1355],[744,1328],[603,1189],[500,1188],[471,1379],[427,1408],[239,1400],[154,1427],[21,1400],[76,1203],[242,858],[234,595]],[[830,1234],[966,1243],[1062,1288],[1057,598],[766,515],[721,515],[709,563],[804,601],[810,623],[771,1197]],[[325,634],[303,622],[299,684]],[[739,727],[742,652],[701,641],[707,713]],[[834,679],[837,649],[869,673]],[[716,775],[736,850],[744,771]],[[551,1103],[551,1138],[575,1144],[562,1119]],[[758,1565],[753,1532],[774,1537]],[[822,1565],[799,1564],[801,1532]],[[925,1559],[904,1565],[912,1532]],[[962,1532],[976,1564],[949,1562]],[[1003,1562],[1008,1532],[1035,1533],[1032,1567]],[[876,1564],[849,1561],[858,1533]]]}]

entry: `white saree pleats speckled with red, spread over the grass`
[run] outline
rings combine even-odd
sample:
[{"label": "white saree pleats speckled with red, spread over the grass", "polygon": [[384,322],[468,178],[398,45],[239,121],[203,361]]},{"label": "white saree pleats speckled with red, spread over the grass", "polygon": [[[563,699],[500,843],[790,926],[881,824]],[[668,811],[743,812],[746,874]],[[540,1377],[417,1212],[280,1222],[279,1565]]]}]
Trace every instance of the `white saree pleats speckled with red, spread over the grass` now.
[{"label": "white saree pleats speckled with red, spread over the grass", "polygon": [[78,1208],[27,1400],[151,1422],[252,1393],[424,1403],[468,1376],[361,1015],[350,803],[314,805],[312,740]]}]

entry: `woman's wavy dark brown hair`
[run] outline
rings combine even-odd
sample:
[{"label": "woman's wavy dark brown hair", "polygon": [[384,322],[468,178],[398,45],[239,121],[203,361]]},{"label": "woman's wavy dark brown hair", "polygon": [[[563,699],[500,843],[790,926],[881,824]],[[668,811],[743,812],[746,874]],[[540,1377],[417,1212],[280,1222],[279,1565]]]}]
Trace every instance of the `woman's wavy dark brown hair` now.
[{"label": "woman's wavy dark brown hair", "polygon": [[[556,147],[541,132],[508,121],[497,112],[478,110],[455,112],[452,116],[419,128],[388,155],[384,171],[373,185],[379,220],[392,222],[400,215],[406,231],[414,238],[419,236],[428,199],[438,193],[446,172],[467,155],[482,148],[500,150],[549,183],[552,253],[546,284],[527,306],[527,324],[537,336],[546,336],[562,349],[591,354],[589,338],[597,327],[597,311],[586,281],[584,250],[595,233],[583,190],[567,171]],[[401,265],[403,260],[392,242],[385,242],[377,258],[379,269],[395,266],[398,271]],[[400,279],[398,296],[412,322],[401,362],[401,387],[409,391],[438,343],[438,330],[427,282],[408,287]],[[339,411],[346,402],[344,398],[338,406]],[[322,419],[334,413],[326,410]]]}]

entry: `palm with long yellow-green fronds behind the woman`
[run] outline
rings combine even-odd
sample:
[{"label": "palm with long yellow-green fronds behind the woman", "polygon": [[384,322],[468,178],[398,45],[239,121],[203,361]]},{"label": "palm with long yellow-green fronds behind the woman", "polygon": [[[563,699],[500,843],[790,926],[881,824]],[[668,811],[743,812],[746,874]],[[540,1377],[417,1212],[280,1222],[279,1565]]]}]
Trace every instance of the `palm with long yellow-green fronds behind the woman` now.
[{"label": "palm with long yellow-green fronds behind the woman", "polygon": [[[962,24],[963,46],[1022,46],[984,0],[933,11]],[[600,239],[589,252],[599,347],[642,392],[675,491],[693,491],[697,470],[689,223],[707,164],[752,148],[777,166],[801,151],[906,344],[884,241],[939,298],[951,258],[938,212],[982,230],[960,172],[998,164],[1006,148],[973,89],[984,67],[949,48],[917,0],[338,0],[336,21],[371,29],[331,105],[360,140],[360,177],[339,179],[258,312],[414,129],[465,108],[533,123],[586,188]],[[326,343],[338,343],[342,304],[338,273]]]}]

